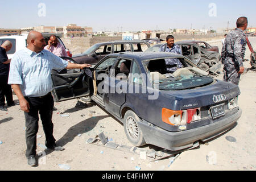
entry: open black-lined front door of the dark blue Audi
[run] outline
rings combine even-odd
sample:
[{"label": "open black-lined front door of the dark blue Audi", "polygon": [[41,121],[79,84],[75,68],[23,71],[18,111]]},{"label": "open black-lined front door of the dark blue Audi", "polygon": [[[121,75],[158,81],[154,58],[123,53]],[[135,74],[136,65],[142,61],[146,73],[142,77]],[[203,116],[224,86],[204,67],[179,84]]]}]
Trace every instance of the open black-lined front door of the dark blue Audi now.
[{"label": "open black-lined front door of the dark blue Audi", "polygon": [[[70,57],[61,57],[76,63]],[[85,97],[90,94],[89,76],[81,69],[52,70],[53,98],[55,102]]]}]

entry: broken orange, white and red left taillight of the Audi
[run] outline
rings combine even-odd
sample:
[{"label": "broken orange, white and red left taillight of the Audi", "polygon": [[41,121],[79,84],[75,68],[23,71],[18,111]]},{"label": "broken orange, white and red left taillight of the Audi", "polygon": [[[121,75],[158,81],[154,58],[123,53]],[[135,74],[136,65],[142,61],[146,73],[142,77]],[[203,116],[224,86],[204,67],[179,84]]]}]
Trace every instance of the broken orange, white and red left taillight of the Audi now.
[{"label": "broken orange, white and red left taillight of the Audi", "polygon": [[185,125],[201,119],[200,108],[188,110],[162,109],[162,121],[169,125]]}]

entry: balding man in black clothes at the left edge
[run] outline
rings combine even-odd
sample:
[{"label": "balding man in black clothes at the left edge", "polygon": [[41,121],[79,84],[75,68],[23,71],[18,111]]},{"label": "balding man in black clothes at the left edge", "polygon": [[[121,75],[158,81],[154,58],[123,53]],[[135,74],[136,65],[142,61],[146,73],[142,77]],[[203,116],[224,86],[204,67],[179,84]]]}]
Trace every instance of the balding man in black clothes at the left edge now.
[{"label": "balding man in black clothes at the left edge", "polygon": [[8,85],[8,76],[11,60],[8,59],[7,53],[10,51],[13,44],[9,40],[6,40],[0,46],[0,110],[7,111],[5,107],[5,98],[7,106],[13,106],[13,92],[11,91],[11,85]]}]

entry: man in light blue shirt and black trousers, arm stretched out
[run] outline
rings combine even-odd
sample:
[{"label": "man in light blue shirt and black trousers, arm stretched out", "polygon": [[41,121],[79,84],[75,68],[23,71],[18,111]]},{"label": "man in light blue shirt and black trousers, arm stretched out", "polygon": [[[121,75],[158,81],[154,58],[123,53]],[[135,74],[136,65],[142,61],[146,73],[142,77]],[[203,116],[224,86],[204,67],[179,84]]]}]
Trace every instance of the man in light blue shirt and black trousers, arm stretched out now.
[{"label": "man in light blue shirt and black trousers, arm stretched out", "polygon": [[53,137],[53,89],[52,69],[83,69],[89,64],[74,64],[44,50],[46,42],[40,32],[31,31],[27,37],[27,48],[15,53],[11,60],[9,82],[19,99],[26,119],[26,157],[30,166],[36,166],[36,134],[38,133],[38,111],[46,134],[46,147],[60,151]]}]

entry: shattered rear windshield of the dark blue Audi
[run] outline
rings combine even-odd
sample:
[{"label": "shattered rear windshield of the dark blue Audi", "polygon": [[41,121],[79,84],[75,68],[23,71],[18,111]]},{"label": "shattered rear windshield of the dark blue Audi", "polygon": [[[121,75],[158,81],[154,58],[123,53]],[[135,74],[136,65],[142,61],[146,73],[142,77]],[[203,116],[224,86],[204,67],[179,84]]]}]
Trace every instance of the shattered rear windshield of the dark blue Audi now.
[{"label": "shattered rear windshield of the dark blue Audi", "polygon": [[204,71],[191,65],[187,59],[183,57],[172,57],[171,59],[179,60],[183,67],[177,67],[174,69],[176,71],[170,72],[171,69],[167,69],[168,65],[166,65],[166,60],[170,61],[170,58],[145,61],[154,88],[183,90],[209,85],[213,82],[213,78],[206,76]]}]

